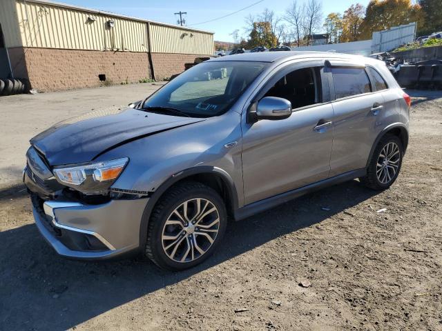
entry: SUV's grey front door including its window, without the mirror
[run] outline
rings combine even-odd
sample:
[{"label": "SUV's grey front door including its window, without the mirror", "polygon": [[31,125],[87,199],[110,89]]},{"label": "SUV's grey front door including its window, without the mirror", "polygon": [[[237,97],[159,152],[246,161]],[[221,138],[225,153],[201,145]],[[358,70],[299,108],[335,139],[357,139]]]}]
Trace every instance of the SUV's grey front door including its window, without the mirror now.
[{"label": "SUV's grey front door including its window, without the mirror", "polygon": [[291,117],[243,121],[245,204],[329,177],[333,108],[325,100],[328,84],[321,77],[321,67],[286,68],[260,96],[291,101]]}]

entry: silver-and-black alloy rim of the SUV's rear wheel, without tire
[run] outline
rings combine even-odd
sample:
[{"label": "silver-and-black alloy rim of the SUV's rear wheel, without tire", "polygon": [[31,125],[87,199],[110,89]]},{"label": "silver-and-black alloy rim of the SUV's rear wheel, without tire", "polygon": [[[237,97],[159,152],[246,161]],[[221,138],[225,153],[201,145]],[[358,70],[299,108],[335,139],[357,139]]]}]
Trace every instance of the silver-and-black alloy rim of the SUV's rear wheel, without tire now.
[{"label": "silver-and-black alloy rim of the SUV's rear wheel, without tire", "polygon": [[378,156],[376,163],[376,177],[382,184],[390,183],[398,172],[401,163],[401,151],[399,146],[390,142],[387,143]]}]

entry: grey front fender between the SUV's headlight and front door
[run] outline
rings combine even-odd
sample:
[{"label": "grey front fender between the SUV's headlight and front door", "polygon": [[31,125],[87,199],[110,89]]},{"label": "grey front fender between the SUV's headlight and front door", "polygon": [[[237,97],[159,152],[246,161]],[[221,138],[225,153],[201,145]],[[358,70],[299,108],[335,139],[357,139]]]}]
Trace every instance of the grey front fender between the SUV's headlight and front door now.
[{"label": "grey front fender between the SUV's headlight and front door", "polygon": [[[229,174],[241,195],[241,137],[240,114],[228,112],[132,141],[106,152],[100,159],[116,159],[122,155],[129,158],[124,172],[112,186],[116,189],[155,192],[170,177],[184,170],[209,166]],[[231,142],[236,144],[228,145]]]}]

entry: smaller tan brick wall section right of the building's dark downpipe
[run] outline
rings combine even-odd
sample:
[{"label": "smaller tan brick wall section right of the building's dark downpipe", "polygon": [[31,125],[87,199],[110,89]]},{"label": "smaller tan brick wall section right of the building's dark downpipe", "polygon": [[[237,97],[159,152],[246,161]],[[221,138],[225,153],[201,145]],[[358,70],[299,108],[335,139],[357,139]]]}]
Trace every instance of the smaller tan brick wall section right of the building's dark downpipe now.
[{"label": "smaller tan brick wall section right of the building's dark downpipe", "polygon": [[152,53],[155,78],[162,80],[173,74],[179,74],[184,71],[184,63],[193,63],[197,57],[208,57],[208,55]]}]

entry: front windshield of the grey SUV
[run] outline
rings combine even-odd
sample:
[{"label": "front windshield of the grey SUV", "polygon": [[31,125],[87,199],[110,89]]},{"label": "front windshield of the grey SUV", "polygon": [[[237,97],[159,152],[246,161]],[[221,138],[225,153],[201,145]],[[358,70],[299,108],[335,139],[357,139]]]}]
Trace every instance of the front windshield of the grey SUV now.
[{"label": "front windshield of the grey SUV", "polygon": [[258,77],[266,63],[213,61],[183,72],[144,101],[142,108],[171,108],[184,116],[223,114]]}]

